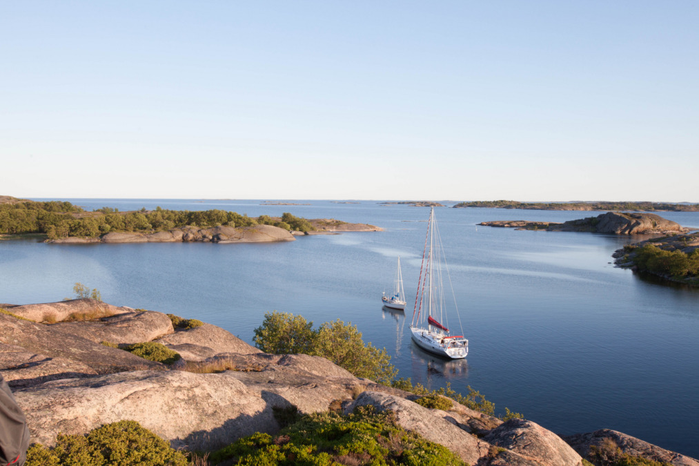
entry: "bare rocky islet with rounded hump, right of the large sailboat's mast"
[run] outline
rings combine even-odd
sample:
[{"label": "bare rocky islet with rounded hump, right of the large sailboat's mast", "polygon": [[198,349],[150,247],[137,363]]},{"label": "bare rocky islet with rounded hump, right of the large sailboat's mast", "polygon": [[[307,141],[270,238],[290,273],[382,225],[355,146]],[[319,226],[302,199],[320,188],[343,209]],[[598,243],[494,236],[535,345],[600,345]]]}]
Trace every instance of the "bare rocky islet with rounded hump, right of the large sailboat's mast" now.
[{"label": "bare rocky islet with rounded hump, right of the large sailboat's mast", "polygon": [[668,234],[687,232],[676,222],[655,213],[607,212],[596,217],[569,220],[565,223],[528,222],[526,220],[494,220],[478,225],[511,227],[518,230],[545,230],[549,232],[591,232],[612,234]]}]

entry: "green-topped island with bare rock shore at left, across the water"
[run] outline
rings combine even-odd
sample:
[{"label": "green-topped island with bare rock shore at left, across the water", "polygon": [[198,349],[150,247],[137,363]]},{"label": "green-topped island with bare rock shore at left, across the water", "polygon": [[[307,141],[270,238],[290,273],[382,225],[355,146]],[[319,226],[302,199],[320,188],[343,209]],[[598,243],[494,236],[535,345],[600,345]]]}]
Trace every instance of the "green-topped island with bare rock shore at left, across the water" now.
[{"label": "green-topped island with bare rock shore at left, across the water", "polygon": [[70,202],[34,202],[0,197],[0,236],[38,234],[55,243],[134,243],[203,241],[247,243],[294,241],[298,234],[380,231],[362,223],[319,218],[308,220],[284,212],[257,218],[218,209],[120,212],[103,207],[88,212]]}]

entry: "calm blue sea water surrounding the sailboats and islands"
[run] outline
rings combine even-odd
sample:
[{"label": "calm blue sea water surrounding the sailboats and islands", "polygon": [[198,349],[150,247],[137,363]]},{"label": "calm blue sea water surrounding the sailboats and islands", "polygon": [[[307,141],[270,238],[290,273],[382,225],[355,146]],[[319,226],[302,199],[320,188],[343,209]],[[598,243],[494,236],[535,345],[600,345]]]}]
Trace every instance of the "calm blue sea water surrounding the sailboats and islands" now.
[{"label": "calm blue sea water surrounding the sailboats and islands", "polygon": [[[699,292],[616,269],[629,242],[611,235],[476,227],[484,220],[565,221],[585,212],[436,209],[470,341],[446,362],[410,341],[428,209],[377,202],[269,206],[256,201],[69,199],[87,209],[224,209],[250,216],[338,218],[376,233],[304,236],[293,243],[50,245],[0,241],[0,302],[51,302],[75,282],[106,302],[176,313],[252,341],[264,313],[316,324],[351,321],[387,348],[400,376],[457,391],[472,386],[561,435],[610,428],[699,457]],[[663,213],[699,228],[698,213]],[[383,311],[401,256],[405,313]],[[410,310],[408,310],[408,308]],[[450,320],[452,327],[454,320]]]}]

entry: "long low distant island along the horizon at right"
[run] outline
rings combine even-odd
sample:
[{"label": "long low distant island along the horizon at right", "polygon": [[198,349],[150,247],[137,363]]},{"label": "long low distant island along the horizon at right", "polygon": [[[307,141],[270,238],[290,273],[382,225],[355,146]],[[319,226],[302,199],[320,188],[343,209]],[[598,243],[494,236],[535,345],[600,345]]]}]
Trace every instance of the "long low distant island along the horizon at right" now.
[{"label": "long low distant island along the horizon at right", "polygon": [[538,211],[670,211],[696,212],[699,204],[672,204],[670,202],[517,202],[473,201],[459,202],[459,207],[486,207],[489,209],[528,209]]}]

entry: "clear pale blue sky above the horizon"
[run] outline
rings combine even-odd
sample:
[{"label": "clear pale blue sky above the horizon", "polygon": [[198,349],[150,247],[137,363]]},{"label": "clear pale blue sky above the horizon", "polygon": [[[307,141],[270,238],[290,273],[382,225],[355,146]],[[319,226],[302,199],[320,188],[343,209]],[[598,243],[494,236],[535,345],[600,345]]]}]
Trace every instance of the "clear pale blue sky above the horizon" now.
[{"label": "clear pale blue sky above the horizon", "polygon": [[699,202],[699,1],[2,1],[0,195]]}]

